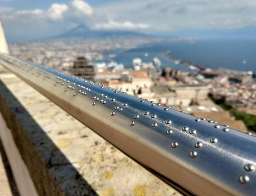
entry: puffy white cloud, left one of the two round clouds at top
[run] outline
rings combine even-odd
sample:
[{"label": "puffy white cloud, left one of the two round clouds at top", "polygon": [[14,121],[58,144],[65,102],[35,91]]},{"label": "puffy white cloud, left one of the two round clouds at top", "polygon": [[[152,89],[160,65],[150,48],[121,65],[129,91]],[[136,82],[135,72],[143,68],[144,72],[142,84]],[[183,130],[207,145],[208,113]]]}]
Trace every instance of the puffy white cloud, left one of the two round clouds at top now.
[{"label": "puffy white cloud, left one of the two round clouds at top", "polygon": [[54,3],[48,9],[48,18],[52,19],[53,21],[58,21],[63,19],[64,12],[67,12],[68,6],[66,4],[57,4]]}]

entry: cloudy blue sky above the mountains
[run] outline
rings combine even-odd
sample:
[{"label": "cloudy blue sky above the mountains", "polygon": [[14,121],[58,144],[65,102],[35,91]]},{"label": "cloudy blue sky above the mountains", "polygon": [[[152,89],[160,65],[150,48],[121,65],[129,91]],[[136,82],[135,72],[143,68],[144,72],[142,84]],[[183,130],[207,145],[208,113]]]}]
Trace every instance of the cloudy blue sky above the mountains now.
[{"label": "cloudy blue sky above the mountains", "polygon": [[148,34],[256,24],[255,0],[0,0],[8,40],[42,38],[86,25]]}]

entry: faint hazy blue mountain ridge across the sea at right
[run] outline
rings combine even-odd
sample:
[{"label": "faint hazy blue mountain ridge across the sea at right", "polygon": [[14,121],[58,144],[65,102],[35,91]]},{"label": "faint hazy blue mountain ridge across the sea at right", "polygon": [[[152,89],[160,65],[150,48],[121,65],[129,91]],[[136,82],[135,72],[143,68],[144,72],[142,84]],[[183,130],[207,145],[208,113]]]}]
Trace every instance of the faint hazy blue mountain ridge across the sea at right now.
[{"label": "faint hazy blue mountain ridge across the sea at right", "polygon": [[197,29],[182,30],[176,32],[164,32],[158,35],[162,36],[180,36],[193,38],[256,38],[256,26],[247,26],[235,29]]}]

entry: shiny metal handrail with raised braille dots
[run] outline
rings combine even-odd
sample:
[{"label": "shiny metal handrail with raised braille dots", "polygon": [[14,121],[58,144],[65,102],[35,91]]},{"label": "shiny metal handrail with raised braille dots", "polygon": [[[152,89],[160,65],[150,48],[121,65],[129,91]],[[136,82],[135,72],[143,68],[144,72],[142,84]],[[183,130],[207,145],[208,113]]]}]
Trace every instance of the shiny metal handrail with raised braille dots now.
[{"label": "shiny metal handrail with raised braille dots", "polygon": [[0,64],[183,195],[256,195],[255,137],[7,54]]}]

